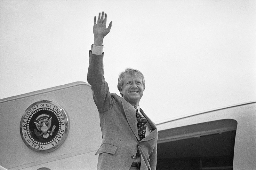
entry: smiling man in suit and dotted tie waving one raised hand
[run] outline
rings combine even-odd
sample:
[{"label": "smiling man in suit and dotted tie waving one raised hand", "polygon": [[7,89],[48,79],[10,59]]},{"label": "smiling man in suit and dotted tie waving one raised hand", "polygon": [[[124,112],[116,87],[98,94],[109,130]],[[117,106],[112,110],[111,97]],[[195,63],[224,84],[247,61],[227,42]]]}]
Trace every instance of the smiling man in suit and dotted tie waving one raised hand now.
[{"label": "smiling man in suit and dotted tie waving one raised hand", "polygon": [[110,32],[107,14],[94,17],[94,43],[89,51],[87,80],[100,115],[102,143],[97,169],[156,169],[156,125],[140,108],[145,89],[143,74],[136,69],[120,73],[117,88],[121,97],[108,91],[103,70],[103,38]]}]

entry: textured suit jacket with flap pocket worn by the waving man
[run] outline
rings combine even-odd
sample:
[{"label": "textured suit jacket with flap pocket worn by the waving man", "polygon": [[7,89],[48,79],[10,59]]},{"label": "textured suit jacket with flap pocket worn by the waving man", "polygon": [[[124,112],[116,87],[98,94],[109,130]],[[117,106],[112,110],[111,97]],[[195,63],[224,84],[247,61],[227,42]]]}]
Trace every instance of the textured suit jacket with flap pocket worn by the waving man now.
[{"label": "textured suit jacket with flap pocket worn by the waving man", "polygon": [[153,131],[139,141],[135,108],[122,97],[108,91],[108,83],[103,76],[103,55],[94,55],[89,51],[87,75],[99,111],[102,133],[102,143],[96,152],[99,154],[97,169],[130,169],[138,149],[140,169],[156,169],[156,124],[140,109]]}]

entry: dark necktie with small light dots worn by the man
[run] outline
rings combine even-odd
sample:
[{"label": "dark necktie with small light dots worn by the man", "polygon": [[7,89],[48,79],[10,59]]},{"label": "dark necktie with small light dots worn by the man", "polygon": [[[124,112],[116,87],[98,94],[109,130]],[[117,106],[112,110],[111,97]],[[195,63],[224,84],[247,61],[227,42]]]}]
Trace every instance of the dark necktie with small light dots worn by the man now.
[{"label": "dark necktie with small light dots worn by the man", "polygon": [[[147,119],[141,116],[141,114],[138,112],[137,107],[134,106],[136,109],[136,119],[137,119],[137,127],[138,127],[138,134],[139,134],[139,141],[141,141],[145,135],[146,135],[146,128],[147,128]],[[137,150],[137,153],[135,155],[135,159],[140,157],[139,150]]]}]

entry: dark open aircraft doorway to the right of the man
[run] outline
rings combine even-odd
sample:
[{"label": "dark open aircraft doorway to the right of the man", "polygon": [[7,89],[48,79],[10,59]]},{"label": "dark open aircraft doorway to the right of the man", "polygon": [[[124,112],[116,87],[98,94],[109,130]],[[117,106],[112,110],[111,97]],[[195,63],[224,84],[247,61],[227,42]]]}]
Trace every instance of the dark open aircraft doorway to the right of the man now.
[{"label": "dark open aircraft doorway to the right of the man", "polygon": [[236,127],[224,119],[159,131],[157,169],[233,169]]}]

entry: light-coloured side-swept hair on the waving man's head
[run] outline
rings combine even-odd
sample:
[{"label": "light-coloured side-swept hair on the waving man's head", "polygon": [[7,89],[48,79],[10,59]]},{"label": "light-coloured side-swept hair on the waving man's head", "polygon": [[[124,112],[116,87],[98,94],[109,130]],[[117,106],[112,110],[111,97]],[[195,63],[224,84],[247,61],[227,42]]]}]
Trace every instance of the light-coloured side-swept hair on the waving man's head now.
[{"label": "light-coloured side-swept hair on the waving man's head", "polygon": [[[143,89],[145,90],[145,79],[144,75],[137,69],[133,68],[126,68],[124,72],[121,72],[118,77],[118,82],[117,82],[117,89],[120,91],[122,86],[124,85],[124,76],[125,75],[133,75],[133,76],[140,76],[142,78],[142,84],[143,84]],[[120,93],[121,96],[123,97],[123,94]]]}]

